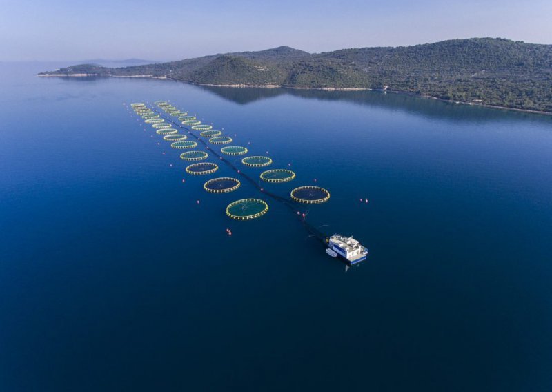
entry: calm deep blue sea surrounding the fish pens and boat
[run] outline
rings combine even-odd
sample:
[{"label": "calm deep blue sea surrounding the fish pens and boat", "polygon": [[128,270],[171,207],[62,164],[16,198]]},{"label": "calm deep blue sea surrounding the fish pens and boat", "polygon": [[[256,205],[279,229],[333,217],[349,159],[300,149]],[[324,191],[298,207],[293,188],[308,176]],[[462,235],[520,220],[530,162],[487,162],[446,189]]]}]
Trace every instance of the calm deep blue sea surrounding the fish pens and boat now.
[{"label": "calm deep blue sea surrounding the fish pens and boat", "polygon": [[[1,391],[552,389],[552,117],[54,66],[0,66]],[[273,192],[317,179],[368,261],[270,199],[228,219],[262,194],[205,193],[123,105],[157,99],[291,164]]]}]

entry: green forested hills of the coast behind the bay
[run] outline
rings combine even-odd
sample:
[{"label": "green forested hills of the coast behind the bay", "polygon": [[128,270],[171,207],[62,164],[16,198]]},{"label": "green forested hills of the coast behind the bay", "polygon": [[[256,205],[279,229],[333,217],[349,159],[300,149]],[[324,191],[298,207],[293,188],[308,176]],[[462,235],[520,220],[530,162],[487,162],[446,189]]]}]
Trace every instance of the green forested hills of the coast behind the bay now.
[{"label": "green forested hills of the coast behind the bay", "polygon": [[552,45],[508,39],[454,39],[317,54],[282,46],[125,68],[83,64],[42,75],[72,74],[151,75],[218,85],[386,87],[452,101],[552,112]]}]

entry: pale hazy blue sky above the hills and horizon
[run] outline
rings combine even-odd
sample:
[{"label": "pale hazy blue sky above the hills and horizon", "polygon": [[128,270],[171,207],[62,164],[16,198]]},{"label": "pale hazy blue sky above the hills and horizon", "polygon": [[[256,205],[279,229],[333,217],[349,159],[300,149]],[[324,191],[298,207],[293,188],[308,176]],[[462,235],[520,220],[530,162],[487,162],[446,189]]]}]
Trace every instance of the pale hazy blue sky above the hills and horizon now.
[{"label": "pale hazy blue sky above the hills and horizon", "polygon": [[466,37],[552,43],[552,0],[0,0],[0,61],[323,52]]}]

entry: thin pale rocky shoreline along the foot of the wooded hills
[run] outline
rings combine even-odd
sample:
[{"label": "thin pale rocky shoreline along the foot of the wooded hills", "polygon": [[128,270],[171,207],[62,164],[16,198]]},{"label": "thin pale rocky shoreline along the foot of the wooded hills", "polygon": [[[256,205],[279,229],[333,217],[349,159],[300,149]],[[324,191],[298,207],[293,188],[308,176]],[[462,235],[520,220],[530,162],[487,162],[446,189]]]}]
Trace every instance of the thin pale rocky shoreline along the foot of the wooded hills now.
[{"label": "thin pale rocky shoreline along the foot of the wooded hills", "polygon": [[[355,87],[292,87],[292,86],[281,86],[279,84],[207,84],[207,83],[195,83],[192,81],[184,81],[179,79],[173,79],[166,76],[154,76],[154,75],[109,75],[109,74],[37,74],[37,77],[92,77],[92,76],[102,76],[102,77],[147,77],[151,79],[165,79],[178,81],[181,83],[195,84],[197,86],[212,86],[212,87],[224,87],[224,88],[288,88],[290,90],[323,90],[323,91],[374,91],[380,89],[374,88],[355,88]],[[531,109],[521,109],[521,108],[509,108],[508,106],[497,106],[497,105],[487,105],[480,104],[477,102],[465,102],[465,101],[451,101],[450,99],[442,99],[439,97],[433,97],[431,95],[420,95],[415,94],[414,92],[409,91],[400,91],[400,90],[386,90],[386,92],[391,92],[393,94],[401,95],[410,95],[411,97],[420,97],[424,99],[435,99],[437,101],[447,102],[449,104],[462,104],[469,106],[480,106],[482,108],[491,108],[491,109],[500,109],[500,110],[511,110],[514,112],[522,113],[531,113],[534,115],[546,115],[552,116],[552,112],[543,112],[541,110],[531,110]]]}]

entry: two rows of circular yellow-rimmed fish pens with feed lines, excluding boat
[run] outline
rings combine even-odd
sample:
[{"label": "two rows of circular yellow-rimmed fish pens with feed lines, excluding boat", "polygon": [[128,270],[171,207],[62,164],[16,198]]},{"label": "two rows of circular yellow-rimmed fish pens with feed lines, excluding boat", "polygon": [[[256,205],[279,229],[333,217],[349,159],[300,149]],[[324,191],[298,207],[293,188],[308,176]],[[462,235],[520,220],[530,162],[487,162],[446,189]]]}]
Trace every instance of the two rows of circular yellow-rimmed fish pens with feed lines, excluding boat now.
[{"label": "two rows of circular yellow-rimmed fish pens with feed lines, excluding boat", "polygon": [[[243,171],[243,168],[239,168],[236,165],[239,165],[239,162],[241,162],[245,168],[263,168],[273,164],[273,159],[265,155],[250,155],[239,161],[228,160],[233,156],[246,155],[249,152],[248,148],[243,146],[224,146],[220,149],[219,154],[209,144],[232,144],[232,137],[223,135],[221,130],[213,130],[213,126],[210,124],[201,124],[196,115],[188,115],[188,112],[176,108],[168,101],[155,101],[155,106],[150,108],[145,103],[130,104],[130,108],[143,119],[145,124],[151,124],[152,128],[155,129],[155,133],[162,135],[163,140],[170,143],[170,147],[190,149],[190,151],[180,154],[180,158],[184,161],[197,161],[197,163],[186,166],[185,171],[188,175],[211,175],[215,173],[219,169],[219,166],[213,162],[203,161],[212,156],[219,160],[221,164],[226,164],[234,170],[238,177],[242,177],[243,180],[253,185],[263,196],[262,198],[246,197],[231,202],[226,206],[225,210],[228,217],[238,221],[262,217],[268,212],[268,201],[272,199],[273,202],[286,206],[295,217],[299,217],[299,221],[302,222],[308,233],[320,239],[323,243],[326,241],[328,236],[311,224],[308,224],[306,222],[306,213],[301,213],[301,211],[297,210],[297,205],[327,202],[330,199],[328,190],[319,186],[307,185],[293,189],[288,197],[272,193],[264,189],[261,183],[278,184],[290,182],[295,179],[296,173],[289,169],[273,169],[265,170],[260,175],[249,175]],[[177,117],[177,120],[172,119],[171,116]],[[199,131],[199,135],[195,134],[197,131]],[[183,135],[184,133],[186,135]],[[188,140],[189,137],[192,137],[195,141]],[[198,147],[201,149],[196,149]],[[228,156],[228,159],[224,155]],[[182,181],[184,182],[184,179]],[[208,193],[221,194],[236,192],[241,185],[242,182],[237,178],[218,177],[208,179],[203,187]],[[197,200],[197,204],[199,204],[199,200]]]}]

